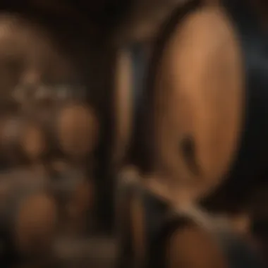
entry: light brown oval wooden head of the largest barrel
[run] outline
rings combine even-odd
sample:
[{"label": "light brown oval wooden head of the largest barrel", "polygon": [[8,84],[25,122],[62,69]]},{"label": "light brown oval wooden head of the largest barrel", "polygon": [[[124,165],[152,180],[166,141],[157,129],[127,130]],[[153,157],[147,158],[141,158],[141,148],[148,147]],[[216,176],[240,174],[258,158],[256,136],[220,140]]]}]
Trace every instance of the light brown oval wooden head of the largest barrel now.
[{"label": "light brown oval wooden head of the largest barrel", "polygon": [[196,200],[221,183],[236,157],[245,108],[243,60],[228,16],[197,4],[184,12],[150,76],[152,164],[173,202],[184,193]]}]

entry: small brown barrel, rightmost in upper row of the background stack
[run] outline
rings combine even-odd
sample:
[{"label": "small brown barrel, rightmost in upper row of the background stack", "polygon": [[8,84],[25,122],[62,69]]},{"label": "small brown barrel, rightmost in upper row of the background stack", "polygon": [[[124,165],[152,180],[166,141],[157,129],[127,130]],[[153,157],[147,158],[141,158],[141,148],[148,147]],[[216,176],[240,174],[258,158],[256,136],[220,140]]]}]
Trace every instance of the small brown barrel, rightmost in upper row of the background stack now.
[{"label": "small brown barrel, rightmost in upper row of the background stack", "polygon": [[49,142],[49,155],[69,159],[85,159],[97,146],[98,121],[95,111],[79,102],[65,102],[32,115],[42,126]]}]

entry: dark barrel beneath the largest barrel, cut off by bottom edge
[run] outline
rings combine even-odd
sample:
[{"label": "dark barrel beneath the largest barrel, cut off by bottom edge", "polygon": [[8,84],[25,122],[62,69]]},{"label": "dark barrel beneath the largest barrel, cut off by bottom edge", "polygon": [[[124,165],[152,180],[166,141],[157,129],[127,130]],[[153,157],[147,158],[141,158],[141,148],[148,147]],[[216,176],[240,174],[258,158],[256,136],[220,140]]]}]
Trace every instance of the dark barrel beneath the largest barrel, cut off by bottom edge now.
[{"label": "dark barrel beneath the largest barrel, cut off by bottom edge", "polygon": [[260,252],[226,222],[192,207],[174,210],[133,174],[125,176],[117,193],[117,267],[265,267]]}]

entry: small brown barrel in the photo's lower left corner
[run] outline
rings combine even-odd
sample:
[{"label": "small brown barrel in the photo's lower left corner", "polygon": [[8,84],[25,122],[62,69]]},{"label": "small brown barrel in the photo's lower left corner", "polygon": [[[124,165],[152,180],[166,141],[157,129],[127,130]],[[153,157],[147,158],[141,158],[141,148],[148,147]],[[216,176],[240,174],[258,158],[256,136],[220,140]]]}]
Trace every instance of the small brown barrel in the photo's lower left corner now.
[{"label": "small brown barrel in the photo's lower left corner", "polygon": [[5,262],[42,258],[56,231],[57,208],[47,192],[47,180],[30,171],[0,177],[2,254]]}]

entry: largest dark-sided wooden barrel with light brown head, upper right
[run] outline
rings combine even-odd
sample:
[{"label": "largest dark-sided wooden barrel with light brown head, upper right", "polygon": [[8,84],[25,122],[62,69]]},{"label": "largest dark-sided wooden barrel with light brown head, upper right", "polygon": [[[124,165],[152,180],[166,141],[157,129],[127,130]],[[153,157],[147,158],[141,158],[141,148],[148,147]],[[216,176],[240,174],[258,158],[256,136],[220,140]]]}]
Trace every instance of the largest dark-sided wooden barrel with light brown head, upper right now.
[{"label": "largest dark-sided wooden barrel with light brown head, upper right", "polygon": [[173,204],[245,209],[265,178],[262,32],[248,3],[237,5],[187,1],[150,45],[128,157]]}]

